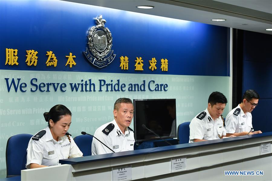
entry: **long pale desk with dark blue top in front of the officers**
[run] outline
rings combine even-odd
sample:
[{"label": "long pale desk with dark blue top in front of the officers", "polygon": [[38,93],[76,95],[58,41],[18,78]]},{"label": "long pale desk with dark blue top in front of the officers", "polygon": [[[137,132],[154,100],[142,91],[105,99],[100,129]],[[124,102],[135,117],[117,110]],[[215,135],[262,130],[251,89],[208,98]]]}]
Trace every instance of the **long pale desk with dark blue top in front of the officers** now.
[{"label": "long pale desk with dark blue top in front of the officers", "polygon": [[[272,180],[272,149],[261,153],[261,145],[272,143],[272,132],[235,138],[177,144],[60,160],[62,165],[40,170],[22,170],[22,180],[43,174],[63,180],[113,180],[113,169],[129,165],[132,180]],[[186,169],[173,171],[172,160],[185,158]],[[50,170],[51,169],[51,170]],[[62,169],[62,171],[60,170]],[[228,176],[226,170],[263,171],[261,176]],[[64,174],[65,172],[65,174]],[[35,175],[36,174],[36,175]],[[39,174],[39,175],[38,175]]]}]

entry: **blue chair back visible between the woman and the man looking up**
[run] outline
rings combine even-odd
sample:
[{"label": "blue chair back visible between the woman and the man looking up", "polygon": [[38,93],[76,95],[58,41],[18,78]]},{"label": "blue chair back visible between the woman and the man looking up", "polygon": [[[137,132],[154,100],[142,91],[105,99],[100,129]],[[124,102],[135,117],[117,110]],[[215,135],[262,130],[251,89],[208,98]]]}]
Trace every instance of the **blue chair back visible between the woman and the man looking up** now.
[{"label": "blue chair back visible between the woman and the man looking up", "polygon": [[74,138],[74,141],[83,156],[92,155],[92,136],[90,135],[79,135]]}]

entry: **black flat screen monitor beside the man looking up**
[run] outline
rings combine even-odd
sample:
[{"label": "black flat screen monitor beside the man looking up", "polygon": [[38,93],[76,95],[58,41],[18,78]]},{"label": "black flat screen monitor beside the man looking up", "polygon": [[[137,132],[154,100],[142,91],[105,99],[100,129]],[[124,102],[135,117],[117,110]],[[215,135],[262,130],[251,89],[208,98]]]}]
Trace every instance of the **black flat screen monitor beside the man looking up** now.
[{"label": "black flat screen monitor beside the man looking up", "polygon": [[176,138],[176,99],[134,99],[136,142],[161,139],[144,129],[144,124],[164,139]]}]

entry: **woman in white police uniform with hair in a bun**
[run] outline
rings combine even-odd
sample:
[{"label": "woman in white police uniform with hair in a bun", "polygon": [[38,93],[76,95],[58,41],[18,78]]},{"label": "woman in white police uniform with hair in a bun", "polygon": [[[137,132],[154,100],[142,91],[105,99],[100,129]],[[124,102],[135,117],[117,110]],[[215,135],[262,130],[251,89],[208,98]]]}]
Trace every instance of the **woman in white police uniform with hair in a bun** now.
[{"label": "woman in white police uniform with hair in a bun", "polygon": [[71,135],[71,112],[63,105],[53,106],[44,113],[48,127],[35,134],[28,143],[26,168],[59,165],[60,159],[82,157]]}]

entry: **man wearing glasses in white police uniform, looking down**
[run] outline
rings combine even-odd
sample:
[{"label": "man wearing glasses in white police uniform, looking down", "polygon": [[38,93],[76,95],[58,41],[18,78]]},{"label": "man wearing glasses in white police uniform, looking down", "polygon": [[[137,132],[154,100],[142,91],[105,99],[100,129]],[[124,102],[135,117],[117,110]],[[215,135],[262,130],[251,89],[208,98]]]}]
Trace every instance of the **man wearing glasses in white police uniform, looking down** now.
[{"label": "man wearing glasses in white police uniform, looking down", "polygon": [[[251,112],[257,107],[259,98],[260,96],[255,90],[249,89],[245,91],[242,102],[231,110],[226,117],[226,136],[242,136],[248,134],[251,128],[253,128]],[[252,129],[252,132],[249,134],[258,133],[262,132]]]}]

